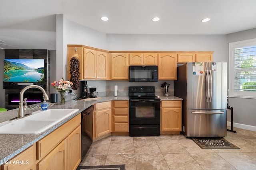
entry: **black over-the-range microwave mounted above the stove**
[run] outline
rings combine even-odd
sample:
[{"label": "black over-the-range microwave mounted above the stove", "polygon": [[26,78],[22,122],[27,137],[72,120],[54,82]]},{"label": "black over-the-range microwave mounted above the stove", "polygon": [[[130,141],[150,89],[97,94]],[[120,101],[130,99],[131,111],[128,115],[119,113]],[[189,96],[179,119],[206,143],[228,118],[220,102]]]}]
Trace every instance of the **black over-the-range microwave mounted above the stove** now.
[{"label": "black over-the-range microwave mounted above the stove", "polygon": [[129,82],[158,82],[158,66],[129,66]]}]

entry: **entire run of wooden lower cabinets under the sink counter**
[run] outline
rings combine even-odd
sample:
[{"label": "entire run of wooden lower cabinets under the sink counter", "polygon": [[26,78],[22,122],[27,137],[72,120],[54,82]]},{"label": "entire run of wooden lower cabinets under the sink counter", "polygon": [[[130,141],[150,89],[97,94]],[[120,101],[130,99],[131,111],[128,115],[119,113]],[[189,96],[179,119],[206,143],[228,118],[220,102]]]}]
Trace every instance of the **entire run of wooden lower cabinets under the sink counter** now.
[{"label": "entire run of wooden lower cabinets under the sink counter", "polygon": [[[15,162],[14,162],[15,161]],[[76,170],[81,161],[81,115],[4,164],[1,170]]]}]

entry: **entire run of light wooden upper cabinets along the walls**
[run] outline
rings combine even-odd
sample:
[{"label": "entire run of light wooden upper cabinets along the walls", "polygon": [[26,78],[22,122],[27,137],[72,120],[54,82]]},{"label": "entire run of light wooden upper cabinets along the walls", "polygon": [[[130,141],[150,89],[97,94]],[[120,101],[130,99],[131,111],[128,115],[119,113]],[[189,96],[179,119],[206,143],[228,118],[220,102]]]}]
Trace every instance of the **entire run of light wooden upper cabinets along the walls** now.
[{"label": "entire run of light wooden upper cabinets along the walls", "polygon": [[177,63],[212,62],[214,51],[106,51],[84,45],[68,45],[70,59],[77,54],[80,80],[129,80],[130,65],[157,65],[159,80],[176,80]]}]

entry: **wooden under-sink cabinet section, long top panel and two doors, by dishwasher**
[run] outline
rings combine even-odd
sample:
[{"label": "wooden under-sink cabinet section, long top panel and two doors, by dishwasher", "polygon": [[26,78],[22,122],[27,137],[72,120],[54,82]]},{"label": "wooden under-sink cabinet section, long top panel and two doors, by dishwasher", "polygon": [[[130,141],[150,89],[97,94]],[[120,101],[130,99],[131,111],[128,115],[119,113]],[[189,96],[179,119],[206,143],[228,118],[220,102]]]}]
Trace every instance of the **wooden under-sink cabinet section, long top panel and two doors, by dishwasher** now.
[{"label": "wooden under-sink cabinet section, long top panel and two doors, by dishwasher", "polygon": [[81,115],[37,142],[38,170],[75,170],[81,161]]}]

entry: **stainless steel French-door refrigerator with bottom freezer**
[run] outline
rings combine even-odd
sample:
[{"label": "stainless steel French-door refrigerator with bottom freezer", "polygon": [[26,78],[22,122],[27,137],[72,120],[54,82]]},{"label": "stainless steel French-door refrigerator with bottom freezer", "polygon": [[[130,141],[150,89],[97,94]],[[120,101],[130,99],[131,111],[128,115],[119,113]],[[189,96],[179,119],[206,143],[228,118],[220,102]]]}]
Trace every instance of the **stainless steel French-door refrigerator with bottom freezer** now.
[{"label": "stainless steel French-door refrigerator with bottom freezer", "polygon": [[174,96],[183,98],[186,137],[227,135],[227,63],[187,63],[177,68]]}]

